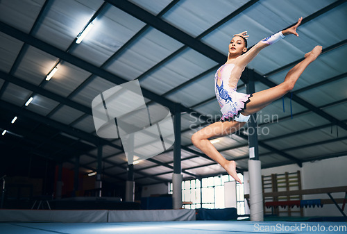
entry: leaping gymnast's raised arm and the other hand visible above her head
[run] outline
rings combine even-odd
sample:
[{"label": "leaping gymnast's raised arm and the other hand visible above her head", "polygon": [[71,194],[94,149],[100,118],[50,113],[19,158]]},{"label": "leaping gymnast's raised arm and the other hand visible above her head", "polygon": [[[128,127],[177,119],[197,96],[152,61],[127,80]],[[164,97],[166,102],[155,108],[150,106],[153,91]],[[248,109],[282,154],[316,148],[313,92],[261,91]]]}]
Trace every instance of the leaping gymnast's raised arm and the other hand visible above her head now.
[{"label": "leaping gymnast's raised arm and the other hand visible above her head", "polygon": [[[255,56],[257,56],[257,54],[262,49],[264,49],[265,47],[268,47],[270,44],[273,44],[273,43],[277,42],[278,40],[282,39],[283,37],[285,37],[285,35],[294,34],[298,37],[298,33],[296,33],[296,28],[298,28],[298,26],[301,24],[302,20],[303,20],[303,17],[298,19],[298,23],[296,23],[294,26],[291,26],[290,28],[287,28],[283,31],[279,31],[278,33],[275,33],[275,34],[271,35],[270,37],[266,37],[263,40],[261,40],[260,42],[258,42],[257,44],[255,44],[255,46],[252,47],[249,51],[242,54],[242,56],[239,56],[236,58],[235,65],[242,67],[242,68],[246,67],[248,65],[248,63],[251,62],[253,60],[253,58],[255,58]],[[246,37],[246,34],[247,34],[246,32],[243,32],[243,33],[240,33],[239,35],[242,37]]]}]

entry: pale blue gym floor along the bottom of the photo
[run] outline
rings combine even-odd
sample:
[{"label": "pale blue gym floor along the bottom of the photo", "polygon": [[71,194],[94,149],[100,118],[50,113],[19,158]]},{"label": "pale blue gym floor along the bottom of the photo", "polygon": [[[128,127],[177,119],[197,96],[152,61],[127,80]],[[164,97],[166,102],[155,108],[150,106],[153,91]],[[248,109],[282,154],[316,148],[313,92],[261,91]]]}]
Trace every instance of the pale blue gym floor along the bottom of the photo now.
[{"label": "pale blue gym floor along the bottom of the photo", "polygon": [[346,222],[122,222],[122,223],[0,223],[3,234],[89,233],[346,233]]}]

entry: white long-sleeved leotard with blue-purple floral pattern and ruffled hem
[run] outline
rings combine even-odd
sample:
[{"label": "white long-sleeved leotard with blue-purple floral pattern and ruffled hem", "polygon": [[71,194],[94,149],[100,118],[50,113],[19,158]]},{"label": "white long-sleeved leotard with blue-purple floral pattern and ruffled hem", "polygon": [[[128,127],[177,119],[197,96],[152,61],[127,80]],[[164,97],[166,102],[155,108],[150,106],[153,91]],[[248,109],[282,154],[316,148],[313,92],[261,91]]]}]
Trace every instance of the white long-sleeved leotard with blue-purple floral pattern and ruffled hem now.
[{"label": "white long-sleeved leotard with blue-purple floral pattern and ruffled hem", "polygon": [[236,91],[239,78],[230,79],[234,67],[234,64],[226,63],[219,67],[214,76],[216,97],[222,113],[221,121],[238,117],[240,112],[246,108],[249,98],[252,97],[252,94],[242,94]]}]

